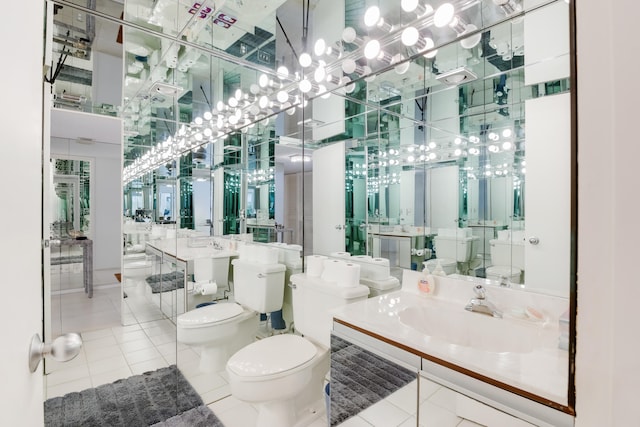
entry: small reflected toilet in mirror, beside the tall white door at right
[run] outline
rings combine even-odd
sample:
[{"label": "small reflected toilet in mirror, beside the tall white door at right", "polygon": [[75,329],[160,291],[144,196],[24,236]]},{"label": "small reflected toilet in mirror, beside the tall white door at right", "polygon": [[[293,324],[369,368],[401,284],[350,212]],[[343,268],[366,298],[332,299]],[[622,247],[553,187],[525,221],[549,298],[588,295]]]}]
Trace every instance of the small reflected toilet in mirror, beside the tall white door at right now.
[{"label": "small reflected toilet in mirror, beside the tall white door at right", "polygon": [[487,279],[502,281],[506,277],[511,283],[523,282],[524,232],[500,231],[497,239],[489,240],[491,266],[486,269]]}]

